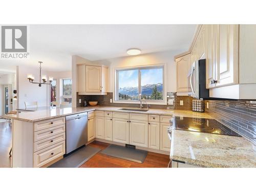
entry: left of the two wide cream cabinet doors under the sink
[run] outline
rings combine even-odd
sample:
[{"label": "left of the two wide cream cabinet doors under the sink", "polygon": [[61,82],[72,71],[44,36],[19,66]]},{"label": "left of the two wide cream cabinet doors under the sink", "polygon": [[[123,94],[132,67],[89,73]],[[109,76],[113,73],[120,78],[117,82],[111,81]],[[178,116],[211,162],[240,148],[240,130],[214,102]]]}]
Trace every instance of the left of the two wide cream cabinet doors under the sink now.
[{"label": "left of the two wide cream cabinet doors under the sink", "polygon": [[113,118],[113,141],[129,144],[129,120]]}]

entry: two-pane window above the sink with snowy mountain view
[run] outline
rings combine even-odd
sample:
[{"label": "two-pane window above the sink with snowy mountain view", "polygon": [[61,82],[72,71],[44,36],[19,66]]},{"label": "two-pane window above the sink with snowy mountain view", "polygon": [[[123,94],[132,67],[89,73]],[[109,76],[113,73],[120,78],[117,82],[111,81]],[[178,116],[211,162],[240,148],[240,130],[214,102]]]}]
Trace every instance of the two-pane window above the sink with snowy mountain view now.
[{"label": "two-pane window above the sink with snowy mountain view", "polygon": [[115,100],[163,100],[163,66],[116,70]]}]

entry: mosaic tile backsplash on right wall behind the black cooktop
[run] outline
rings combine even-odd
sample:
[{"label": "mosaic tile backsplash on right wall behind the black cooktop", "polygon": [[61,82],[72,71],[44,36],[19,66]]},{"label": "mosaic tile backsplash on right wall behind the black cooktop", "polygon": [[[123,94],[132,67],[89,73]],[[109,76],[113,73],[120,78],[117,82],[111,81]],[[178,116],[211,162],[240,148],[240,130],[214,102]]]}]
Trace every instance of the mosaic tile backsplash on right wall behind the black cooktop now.
[{"label": "mosaic tile backsplash on right wall behind the black cooktop", "polygon": [[255,101],[205,100],[205,112],[256,144]]}]

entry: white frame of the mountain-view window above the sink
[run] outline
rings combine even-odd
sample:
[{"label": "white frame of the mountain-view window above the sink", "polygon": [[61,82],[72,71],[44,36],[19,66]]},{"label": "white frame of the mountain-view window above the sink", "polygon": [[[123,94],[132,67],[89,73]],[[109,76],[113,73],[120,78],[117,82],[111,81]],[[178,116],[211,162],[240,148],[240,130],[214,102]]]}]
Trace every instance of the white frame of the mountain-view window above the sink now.
[{"label": "white frame of the mountain-view window above the sink", "polygon": [[146,66],[134,66],[134,67],[123,67],[123,68],[115,68],[114,69],[114,103],[140,103],[140,100],[119,100],[118,94],[118,75],[117,72],[119,71],[126,71],[126,70],[139,70],[138,72],[138,94],[141,93],[141,73],[140,70],[145,69],[163,69],[163,99],[162,100],[154,100],[154,99],[146,99],[147,104],[163,104],[167,103],[166,101],[166,63],[161,63],[157,65],[146,65]]}]

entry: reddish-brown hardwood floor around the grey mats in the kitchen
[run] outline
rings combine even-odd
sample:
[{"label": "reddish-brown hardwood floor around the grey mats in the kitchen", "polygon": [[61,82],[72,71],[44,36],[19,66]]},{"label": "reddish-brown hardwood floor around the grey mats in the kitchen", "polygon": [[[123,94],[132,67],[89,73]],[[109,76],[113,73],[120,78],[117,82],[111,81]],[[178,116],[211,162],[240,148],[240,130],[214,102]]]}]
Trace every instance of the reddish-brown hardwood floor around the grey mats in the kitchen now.
[{"label": "reddish-brown hardwood floor around the grey mats in the kitchen", "polygon": [[[109,143],[103,143],[99,141],[94,141],[89,144],[89,146],[99,147],[102,150],[109,145]],[[148,152],[143,163],[136,163],[133,161],[119,159],[116,157],[103,155],[99,152],[80,167],[167,167],[168,162],[168,155],[153,152]]]}]

